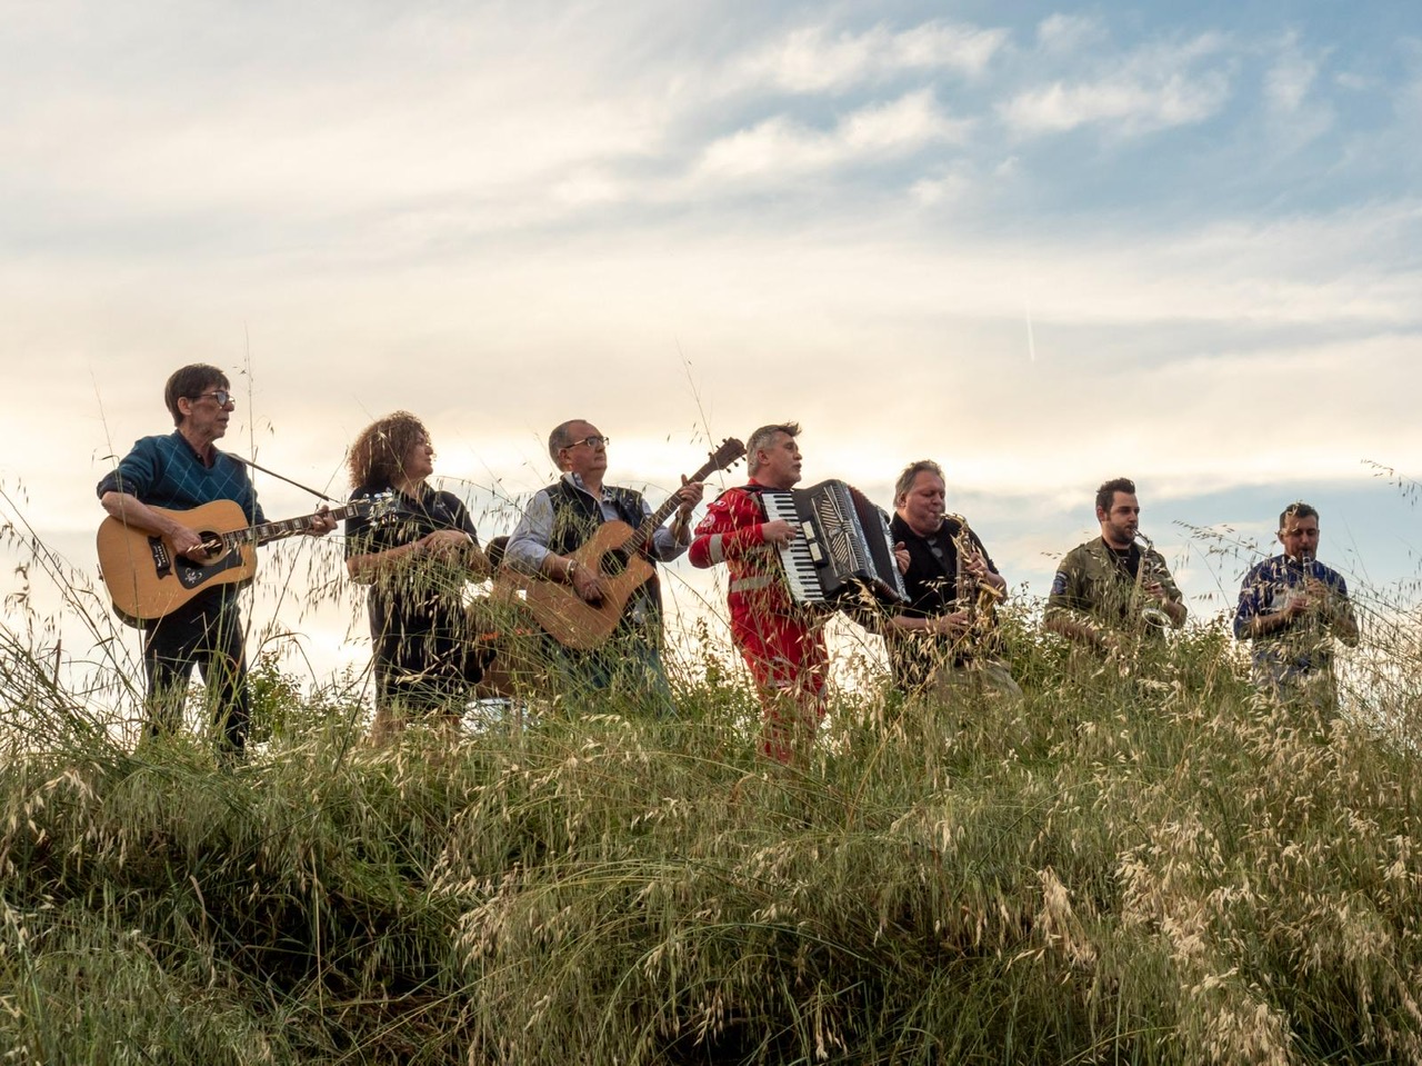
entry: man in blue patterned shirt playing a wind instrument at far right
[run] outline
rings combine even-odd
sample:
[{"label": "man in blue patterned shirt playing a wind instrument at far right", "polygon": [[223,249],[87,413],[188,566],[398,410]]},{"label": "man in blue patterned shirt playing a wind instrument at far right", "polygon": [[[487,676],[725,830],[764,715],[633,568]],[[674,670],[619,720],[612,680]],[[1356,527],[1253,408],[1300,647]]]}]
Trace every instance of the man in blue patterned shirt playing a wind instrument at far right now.
[{"label": "man in blue patterned shirt playing a wind instrument at far right", "polygon": [[1278,517],[1284,554],[1254,565],[1240,586],[1234,636],[1254,645],[1254,683],[1330,716],[1338,709],[1332,642],[1358,643],[1348,582],[1314,556],[1318,511],[1290,504]]}]

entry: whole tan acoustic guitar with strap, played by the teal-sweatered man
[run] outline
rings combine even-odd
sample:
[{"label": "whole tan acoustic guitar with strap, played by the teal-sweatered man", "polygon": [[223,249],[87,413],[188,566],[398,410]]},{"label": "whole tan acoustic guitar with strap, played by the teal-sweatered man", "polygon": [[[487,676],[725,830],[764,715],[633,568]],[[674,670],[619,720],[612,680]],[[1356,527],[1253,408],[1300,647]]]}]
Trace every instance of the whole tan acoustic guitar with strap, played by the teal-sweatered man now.
[{"label": "whole tan acoustic guitar with strap, played by the teal-sweatered man", "polygon": [[[394,507],[394,494],[356,500],[330,511],[331,518],[378,518]],[[246,584],[257,569],[256,545],[311,528],[314,514],[250,525],[233,500],[216,500],[191,511],[152,508],[202,537],[203,558],[173,551],[172,541],[118,518],[98,528],[98,568],[114,601],[114,613],[128,625],[172,613],[213,585]]]}]

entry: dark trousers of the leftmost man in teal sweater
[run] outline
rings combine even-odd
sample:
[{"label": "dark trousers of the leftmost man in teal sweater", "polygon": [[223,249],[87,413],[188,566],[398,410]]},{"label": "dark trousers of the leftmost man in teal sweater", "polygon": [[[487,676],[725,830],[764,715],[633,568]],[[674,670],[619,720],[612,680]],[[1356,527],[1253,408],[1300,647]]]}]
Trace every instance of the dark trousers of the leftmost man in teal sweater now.
[{"label": "dark trousers of the leftmost man in teal sweater", "polygon": [[182,727],[192,667],[202,670],[208,706],[219,730],[219,750],[240,756],[247,744],[247,660],[236,593],[201,595],[158,619],[144,638],[148,679],[148,734]]}]

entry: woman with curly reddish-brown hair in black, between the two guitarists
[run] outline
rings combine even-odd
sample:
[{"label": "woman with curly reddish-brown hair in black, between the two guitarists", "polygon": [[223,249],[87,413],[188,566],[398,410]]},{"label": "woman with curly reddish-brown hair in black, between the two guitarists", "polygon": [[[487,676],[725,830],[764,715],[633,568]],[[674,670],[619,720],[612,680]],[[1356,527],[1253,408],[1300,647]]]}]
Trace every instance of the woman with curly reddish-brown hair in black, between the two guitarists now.
[{"label": "woman with curly reddish-brown hair in black, between the two guitarists", "polygon": [[346,569],[370,585],[375,652],[377,743],[412,716],[458,723],[491,653],[481,650],[464,608],[464,585],[489,574],[464,502],[425,478],[434,473],[429,431],[410,411],[367,426],[351,444],[353,500],[394,492],[381,518],[346,522]]}]

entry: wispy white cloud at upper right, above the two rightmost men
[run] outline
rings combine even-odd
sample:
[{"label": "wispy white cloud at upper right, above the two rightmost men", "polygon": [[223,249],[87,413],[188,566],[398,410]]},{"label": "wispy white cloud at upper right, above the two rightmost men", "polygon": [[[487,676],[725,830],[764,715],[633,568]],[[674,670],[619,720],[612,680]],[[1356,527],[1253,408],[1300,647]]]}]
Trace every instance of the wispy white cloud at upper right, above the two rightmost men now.
[{"label": "wispy white cloud at upper right, above the two rightmost men", "polygon": [[1126,57],[1119,71],[1089,81],[1054,81],[1020,93],[998,108],[1022,135],[1059,134],[1109,124],[1123,134],[1192,125],[1217,114],[1230,94],[1220,68],[1196,70],[1217,57],[1223,41],[1202,34],[1183,46],[1150,46]]}]

